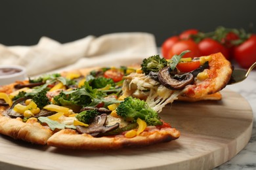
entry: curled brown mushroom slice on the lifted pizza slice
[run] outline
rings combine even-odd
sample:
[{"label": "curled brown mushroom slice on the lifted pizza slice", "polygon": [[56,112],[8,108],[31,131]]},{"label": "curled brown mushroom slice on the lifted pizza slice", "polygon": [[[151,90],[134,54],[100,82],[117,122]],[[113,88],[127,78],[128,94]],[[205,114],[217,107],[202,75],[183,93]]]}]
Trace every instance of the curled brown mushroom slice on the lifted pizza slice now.
[{"label": "curled brown mushroom slice on the lifted pizza slice", "polygon": [[158,80],[165,86],[165,88],[182,90],[186,85],[194,82],[194,76],[192,73],[171,76],[169,67],[164,67],[158,72]]}]

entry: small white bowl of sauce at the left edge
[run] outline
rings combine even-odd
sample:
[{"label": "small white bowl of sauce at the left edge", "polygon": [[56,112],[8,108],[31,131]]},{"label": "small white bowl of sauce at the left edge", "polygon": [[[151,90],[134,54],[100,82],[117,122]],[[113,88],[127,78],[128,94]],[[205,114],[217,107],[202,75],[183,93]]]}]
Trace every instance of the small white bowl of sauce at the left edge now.
[{"label": "small white bowl of sauce at the left edge", "polygon": [[0,65],[0,85],[11,84],[16,80],[25,80],[26,69],[19,65]]}]

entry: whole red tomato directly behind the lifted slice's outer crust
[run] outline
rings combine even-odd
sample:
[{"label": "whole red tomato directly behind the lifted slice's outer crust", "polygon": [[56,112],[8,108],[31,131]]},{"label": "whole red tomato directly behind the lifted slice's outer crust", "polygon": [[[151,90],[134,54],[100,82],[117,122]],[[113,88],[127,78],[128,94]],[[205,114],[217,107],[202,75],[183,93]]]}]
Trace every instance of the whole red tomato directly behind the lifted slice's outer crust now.
[{"label": "whole red tomato directly behind the lifted slice's outer crust", "polygon": [[210,54],[221,52],[226,59],[229,59],[228,49],[226,49],[221,43],[213,39],[203,39],[199,42],[198,47],[202,56],[209,56]]}]

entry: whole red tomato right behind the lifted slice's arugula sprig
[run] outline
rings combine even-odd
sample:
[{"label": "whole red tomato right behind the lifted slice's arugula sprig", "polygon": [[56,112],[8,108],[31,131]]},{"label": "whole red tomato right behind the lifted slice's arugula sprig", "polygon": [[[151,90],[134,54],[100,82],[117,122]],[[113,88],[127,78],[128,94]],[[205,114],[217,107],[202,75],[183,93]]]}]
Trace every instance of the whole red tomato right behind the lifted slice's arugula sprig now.
[{"label": "whole red tomato right behind the lifted slice's arugula sprig", "polygon": [[190,52],[186,53],[182,58],[196,58],[200,56],[200,50],[196,42],[192,40],[181,40],[171,47],[167,59],[171,59],[175,54],[179,55],[185,50],[190,50]]}]

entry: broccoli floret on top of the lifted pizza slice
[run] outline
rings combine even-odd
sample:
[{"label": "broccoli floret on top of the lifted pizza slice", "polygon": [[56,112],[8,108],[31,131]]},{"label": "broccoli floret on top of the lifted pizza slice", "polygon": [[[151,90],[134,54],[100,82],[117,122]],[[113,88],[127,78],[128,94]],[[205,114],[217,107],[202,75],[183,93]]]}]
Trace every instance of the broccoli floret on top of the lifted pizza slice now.
[{"label": "broccoli floret on top of the lifted pizza slice", "polygon": [[145,58],[140,65],[142,72],[145,75],[148,75],[151,71],[157,73],[163,67],[167,66],[167,61],[164,58],[161,58],[159,55],[151,56],[149,58]]}]

